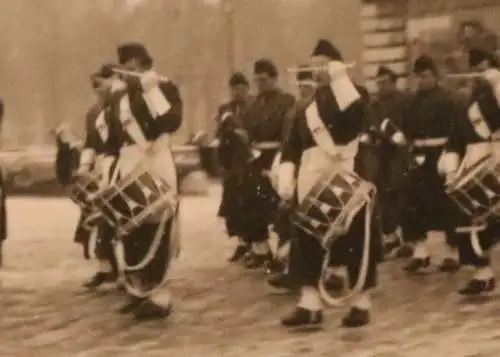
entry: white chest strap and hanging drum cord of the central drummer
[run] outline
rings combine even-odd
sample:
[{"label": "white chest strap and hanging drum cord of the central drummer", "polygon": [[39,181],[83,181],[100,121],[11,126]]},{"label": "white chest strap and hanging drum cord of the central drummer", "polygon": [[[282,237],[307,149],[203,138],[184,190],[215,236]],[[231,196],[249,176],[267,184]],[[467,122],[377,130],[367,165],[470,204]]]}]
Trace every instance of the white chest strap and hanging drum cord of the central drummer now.
[{"label": "white chest strap and hanging drum cord of the central drummer", "polygon": [[[318,105],[315,100],[311,102],[311,104],[306,109],[306,123],[309,128],[312,138],[316,145],[322,149],[325,153],[327,153],[332,160],[342,161],[347,158],[343,158],[342,152],[339,150],[338,146],[335,144],[333,138],[331,137],[328,129],[326,128],[323,120],[321,120]],[[347,145],[345,148],[347,152],[354,152],[355,148],[358,145],[358,139],[353,140],[351,143]],[[370,262],[370,245],[371,245],[371,231],[372,231],[372,217],[374,211],[374,200],[370,199],[367,201],[366,211],[365,211],[365,234],[363,241],[363,254],[361,257],[361,267],[358,275],[358,280],[354,285],[352,291],[343,297],[332,297],[325,288],[323,283],[319,284],[319,292],[323,299],[323,301],[329,306],[339,306],[343,305],[346,302],[352,300],[363,290],[363,286],[366,283],[366,278],[368,274],[368,265]],[[362,208],[362,207],[361,207]],[[348,221],[352,221],[354,215],[357,214],[357,211],[351,214]],[[326,272],[326,269],[329,266],[330,260],[330,251],[327,250],[324,260],[323,260],[323,272]],[[322,281],[323,279],[321,279]]]}]

